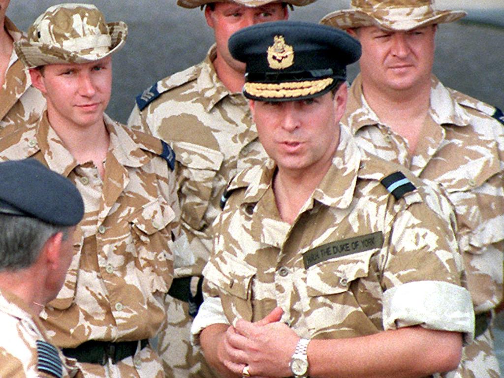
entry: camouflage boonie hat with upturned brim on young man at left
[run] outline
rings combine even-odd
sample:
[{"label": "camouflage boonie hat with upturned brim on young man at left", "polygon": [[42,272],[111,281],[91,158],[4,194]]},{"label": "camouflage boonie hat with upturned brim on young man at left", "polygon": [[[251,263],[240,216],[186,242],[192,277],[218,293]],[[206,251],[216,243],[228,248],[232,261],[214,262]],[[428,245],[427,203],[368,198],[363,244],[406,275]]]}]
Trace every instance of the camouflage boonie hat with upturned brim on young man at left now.
[{"label": "camouflage boonie hat with upturned brim on young man at left", "polygon": [[105,23],[94,5],[59,4],[40,15],[28,29],[28,38],[14,45],[28,68],[88,63],[119,51],[127,34],[125,23]]}]

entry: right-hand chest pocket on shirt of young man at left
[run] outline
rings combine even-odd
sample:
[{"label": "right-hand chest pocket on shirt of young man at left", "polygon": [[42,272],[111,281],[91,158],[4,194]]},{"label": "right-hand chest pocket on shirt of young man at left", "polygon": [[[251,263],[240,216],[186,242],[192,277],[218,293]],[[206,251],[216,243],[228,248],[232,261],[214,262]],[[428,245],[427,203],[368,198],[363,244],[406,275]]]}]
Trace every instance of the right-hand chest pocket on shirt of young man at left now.
[{"label": "right-hand chest pocket on shirt of young man at left", "polygon": [[173,278],[173,255],[169,248],[170,223],[175,213],[163,198],[150,202],[130,218],[144,292],[167,293]]}]

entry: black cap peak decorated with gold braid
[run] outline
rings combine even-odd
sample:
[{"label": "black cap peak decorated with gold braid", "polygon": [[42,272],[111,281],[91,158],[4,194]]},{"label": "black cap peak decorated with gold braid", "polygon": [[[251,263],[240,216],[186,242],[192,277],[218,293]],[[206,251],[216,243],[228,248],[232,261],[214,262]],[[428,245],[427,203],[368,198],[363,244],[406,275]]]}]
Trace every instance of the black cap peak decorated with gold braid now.
[{"label": "black cap peak decorated with gold braid", "polygon": [[329,77],[302,82],[247,82],[243,86],[243,95],[250,100],[268,102],[306,100],[325,95],[343,81],[341,78]]}]

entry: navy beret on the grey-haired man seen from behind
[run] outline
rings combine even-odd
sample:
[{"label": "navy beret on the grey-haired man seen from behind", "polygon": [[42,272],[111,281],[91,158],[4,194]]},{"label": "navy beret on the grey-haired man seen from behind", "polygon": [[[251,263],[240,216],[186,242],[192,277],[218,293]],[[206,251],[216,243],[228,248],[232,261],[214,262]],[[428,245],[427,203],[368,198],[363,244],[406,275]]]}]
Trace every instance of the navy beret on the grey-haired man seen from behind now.
[{"label": "navy beret on the grey-haired man seen from behind", "polygon": [[0,213],[74,226],[84,216],[81,194],[69,179],[35,159],[0,163]]}]

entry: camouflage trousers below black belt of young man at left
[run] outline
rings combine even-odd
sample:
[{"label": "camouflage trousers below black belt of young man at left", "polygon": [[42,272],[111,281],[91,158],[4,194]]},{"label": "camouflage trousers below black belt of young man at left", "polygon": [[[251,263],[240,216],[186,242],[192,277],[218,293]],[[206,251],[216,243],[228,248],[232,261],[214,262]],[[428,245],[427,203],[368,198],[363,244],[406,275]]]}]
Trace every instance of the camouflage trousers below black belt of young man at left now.
[{"label": "camouflage trousers below black belt of young man at left", "polygon": [[163,378],[163,367],[157,353],[148,345],[128,358],[104,366],[97,363],[77,363],[81,371],[75,378]]}]

